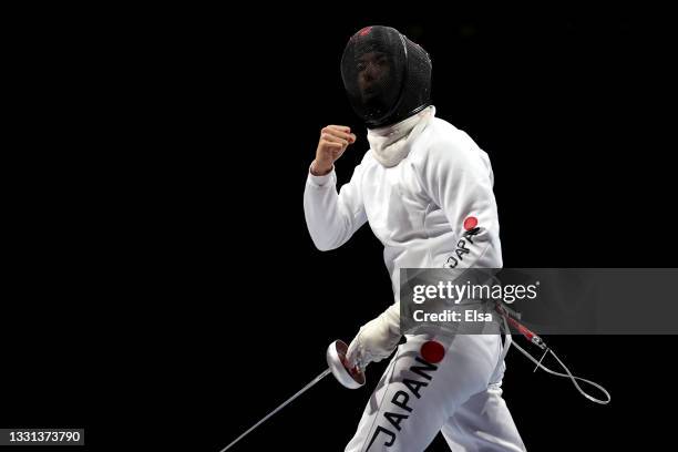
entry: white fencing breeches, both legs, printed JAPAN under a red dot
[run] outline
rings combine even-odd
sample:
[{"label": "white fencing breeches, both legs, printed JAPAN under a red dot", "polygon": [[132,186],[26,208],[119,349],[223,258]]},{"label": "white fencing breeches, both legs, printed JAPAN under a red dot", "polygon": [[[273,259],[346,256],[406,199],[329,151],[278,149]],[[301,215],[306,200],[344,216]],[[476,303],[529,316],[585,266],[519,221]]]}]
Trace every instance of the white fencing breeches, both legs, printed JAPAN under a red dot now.
[{"label": "white fencing breeches, both legs, printed JAPAN under a red dot", "polygon": [[442,431],[454,452],[524,451],[502,398],[497,335],[417,335],[398,347],[346,452],[419,452]]}]

